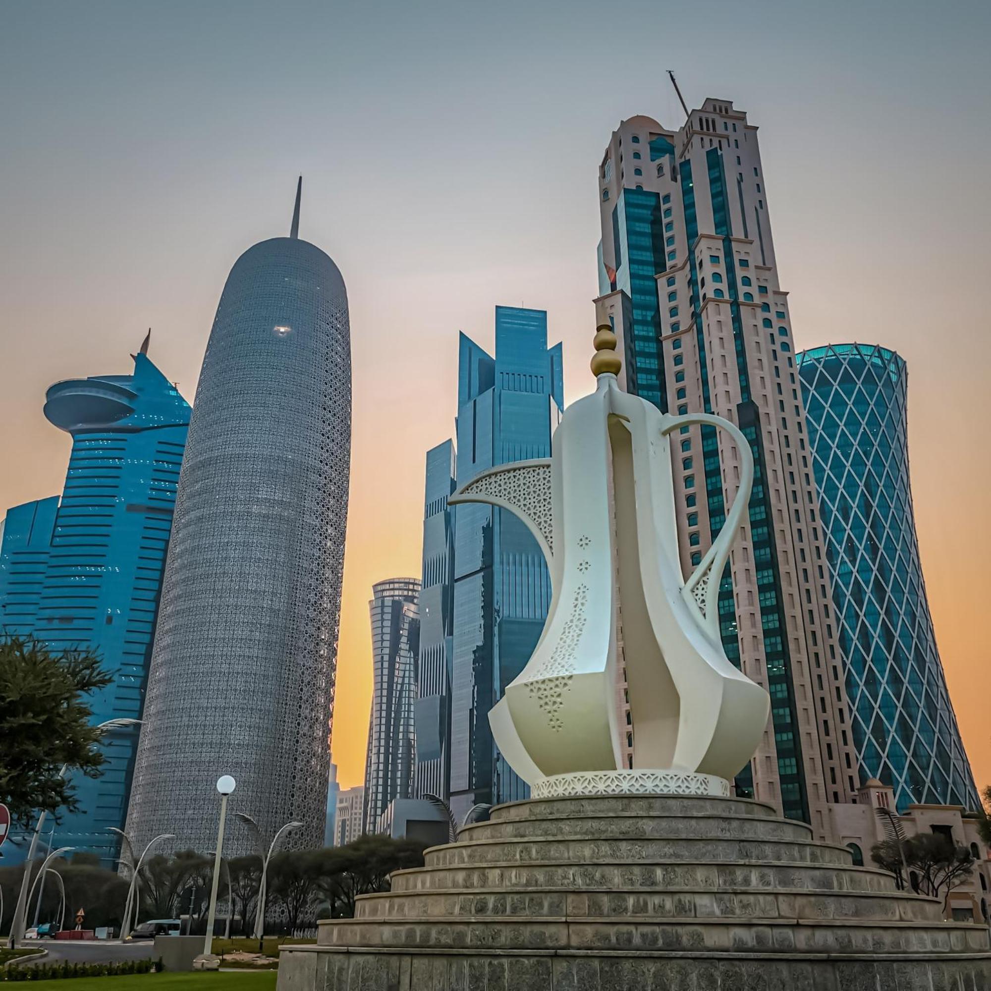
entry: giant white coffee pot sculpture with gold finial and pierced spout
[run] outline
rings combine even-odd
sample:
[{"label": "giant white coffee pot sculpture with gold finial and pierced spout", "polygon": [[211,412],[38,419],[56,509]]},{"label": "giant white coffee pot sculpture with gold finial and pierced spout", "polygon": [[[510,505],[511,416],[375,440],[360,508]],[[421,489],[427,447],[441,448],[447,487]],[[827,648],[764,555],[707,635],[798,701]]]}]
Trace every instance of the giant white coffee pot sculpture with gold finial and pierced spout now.
[{"label": "giant white coffee pot sculpture with gold finial and pierced spout", "polygon": [[[728,794],[770,709],[767,693],[726,658],[716,606],[753,482],[750,445],[721,417],[672,416],[622,391],[608,325],[595,344],[597,389],[565,411],[552,457],[500,466],[449,498],[515,513],[551,575],[540,640],[489,714],[495,743],[534,796]],[[729,434],[740,480],[722,529],[685,581],[669,437],[695,423]],[[632,771],[623,761],[619,663],[633,723]]]}]

